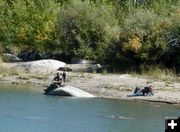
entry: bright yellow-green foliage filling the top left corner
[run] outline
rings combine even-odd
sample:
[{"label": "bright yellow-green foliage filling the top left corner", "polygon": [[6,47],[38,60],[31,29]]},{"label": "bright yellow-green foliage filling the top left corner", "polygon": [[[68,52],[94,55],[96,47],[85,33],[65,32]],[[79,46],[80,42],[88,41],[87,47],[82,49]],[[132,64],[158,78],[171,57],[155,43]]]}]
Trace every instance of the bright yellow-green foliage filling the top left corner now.
[{"label": "bright yellow-green foliage filling the top left corner", "polygon": [[42,48],[53,40],[59,7],[54,1],[18,0],[0,4],[0,41],[6,47],[28,45]]}]

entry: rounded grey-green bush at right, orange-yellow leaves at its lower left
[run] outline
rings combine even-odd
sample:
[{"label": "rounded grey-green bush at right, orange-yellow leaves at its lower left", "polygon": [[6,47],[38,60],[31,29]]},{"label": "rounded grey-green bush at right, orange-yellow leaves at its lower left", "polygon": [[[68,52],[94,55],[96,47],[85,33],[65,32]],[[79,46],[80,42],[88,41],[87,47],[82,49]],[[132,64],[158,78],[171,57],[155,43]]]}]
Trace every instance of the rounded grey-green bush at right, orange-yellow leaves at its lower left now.
[{"label": "rounded grey-green bush at right, orange-yellow leaves at its lower left", "polygon": [[[157,63],[160,60],[162,52],[167,49],[166,32],[170,24],[169,19],[161,18],[155,12],[144,9],[138,10],[125,19],[124,32],[127,32],[127,37],[138,38],[138,41],[130,39],[129,43],[136,46],[134,50],[131,48],[131,51],[140,61]],[[124,47],[128,48],[126,45]]]}]

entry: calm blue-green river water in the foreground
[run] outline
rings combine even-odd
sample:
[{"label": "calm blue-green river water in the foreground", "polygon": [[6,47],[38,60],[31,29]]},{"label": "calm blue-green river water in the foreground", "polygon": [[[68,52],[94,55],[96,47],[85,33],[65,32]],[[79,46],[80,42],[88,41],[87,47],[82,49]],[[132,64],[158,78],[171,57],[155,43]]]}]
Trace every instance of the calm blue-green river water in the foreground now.
[{"label": "calm blue-green river water in the foreground", "polygon": [[180,107],[43,95],[38,88],[0,86],[1,132],[164,132]]}]

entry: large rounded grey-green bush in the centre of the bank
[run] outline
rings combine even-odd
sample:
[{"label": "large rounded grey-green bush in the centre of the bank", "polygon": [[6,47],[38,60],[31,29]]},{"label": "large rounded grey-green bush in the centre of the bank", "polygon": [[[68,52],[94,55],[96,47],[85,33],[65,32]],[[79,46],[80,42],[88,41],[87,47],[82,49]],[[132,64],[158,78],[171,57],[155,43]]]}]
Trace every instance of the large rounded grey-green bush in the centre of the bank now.
[{"label": "large rounded grey-green bush in the centre of the bank", "polygon": [[108,45],[118,40],[118,23],[112,5],[72,1],[60,10],[59,40],[65,54],[103,60]]}]

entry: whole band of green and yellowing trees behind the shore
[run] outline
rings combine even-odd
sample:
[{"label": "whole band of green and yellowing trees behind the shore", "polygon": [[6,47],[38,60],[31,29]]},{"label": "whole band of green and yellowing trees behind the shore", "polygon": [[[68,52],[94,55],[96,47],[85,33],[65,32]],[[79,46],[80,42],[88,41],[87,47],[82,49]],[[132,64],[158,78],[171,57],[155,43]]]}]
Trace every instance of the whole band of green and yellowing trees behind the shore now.
[{"label": "whole band of green and yellowing trees behind the shore", "polygon": [[36,49],[110,64],[180,66],[179,0],[1,0],[0,52]]}]

